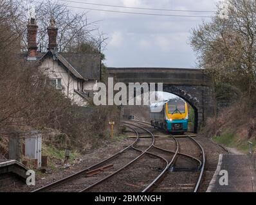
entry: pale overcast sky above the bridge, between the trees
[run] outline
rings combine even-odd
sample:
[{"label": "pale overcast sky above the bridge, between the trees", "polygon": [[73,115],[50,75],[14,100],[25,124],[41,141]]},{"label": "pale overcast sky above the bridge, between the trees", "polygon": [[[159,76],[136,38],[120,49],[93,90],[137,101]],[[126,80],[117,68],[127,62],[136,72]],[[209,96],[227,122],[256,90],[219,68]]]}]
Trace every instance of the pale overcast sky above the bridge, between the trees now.
[{"label": "pale overcast sky above the bridge, between the trees", "polygon": [[[163,8],[174,10],[215,11],[218,0],[74,0],[87,3]],[[125,12],[167,13],[175,15],[214,15],[214,13],[159,12],[91,6],[67,3],[72,6],[117,10]],[[189,44],[190,30],[203,19],[194,17],[161,17],[90,11],[90,21],[100,20],[98,26],[109,40],[105,48],[108,67],[196,67],[196,54]]]}]

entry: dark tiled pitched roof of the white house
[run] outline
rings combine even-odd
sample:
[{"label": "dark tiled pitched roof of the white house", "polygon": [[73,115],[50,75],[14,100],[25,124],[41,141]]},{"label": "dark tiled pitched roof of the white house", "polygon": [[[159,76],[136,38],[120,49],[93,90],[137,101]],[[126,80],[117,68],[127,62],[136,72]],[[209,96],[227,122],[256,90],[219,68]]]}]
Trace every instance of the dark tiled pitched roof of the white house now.
[{"label": "dark tiled pitched roof of the white house", "polygon": [[[42,61],[47,56],[55,56],[59,62],[68,69],[75,78],[84,80],[100,79],[100,54],[99,53],[37,53],[37,61]],[[21,54],[26,58],[27,53]]]}]

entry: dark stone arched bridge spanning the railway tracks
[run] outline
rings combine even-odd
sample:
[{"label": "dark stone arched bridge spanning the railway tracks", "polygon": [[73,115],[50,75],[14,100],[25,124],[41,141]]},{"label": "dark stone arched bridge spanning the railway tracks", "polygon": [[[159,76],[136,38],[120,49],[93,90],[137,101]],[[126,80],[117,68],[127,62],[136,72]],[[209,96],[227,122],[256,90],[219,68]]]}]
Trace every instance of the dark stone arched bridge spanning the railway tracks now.
[{"label": "dark stone arched bridge spanning the railway tracks", "polygon": [[214,113],[212,81],[203,69],[111,68],[109,77],[122,83],[163,83],[163,91],[178,95],[195,111],[195,131]]}]

